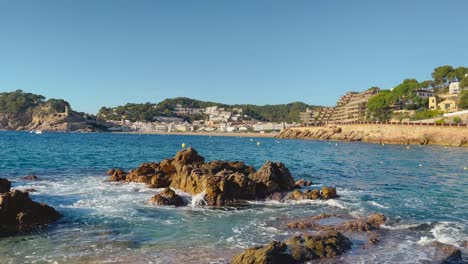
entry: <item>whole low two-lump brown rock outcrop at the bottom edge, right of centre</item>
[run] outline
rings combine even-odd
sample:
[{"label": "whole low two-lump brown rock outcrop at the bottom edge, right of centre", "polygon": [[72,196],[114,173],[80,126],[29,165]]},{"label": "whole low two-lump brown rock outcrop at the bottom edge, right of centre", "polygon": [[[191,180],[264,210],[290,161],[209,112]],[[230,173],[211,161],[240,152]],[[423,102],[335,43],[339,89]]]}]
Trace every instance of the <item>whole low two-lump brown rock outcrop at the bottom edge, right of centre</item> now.
[{"label": "whole low two-lump brown rock outcrop at the bottom edge, right of centre", "polygon": [[232,264],[303,263],[320,258],[336,257],[351,249],[351,241],[337,231],[303,234],[284,242],[272,241],[235,256]]}]

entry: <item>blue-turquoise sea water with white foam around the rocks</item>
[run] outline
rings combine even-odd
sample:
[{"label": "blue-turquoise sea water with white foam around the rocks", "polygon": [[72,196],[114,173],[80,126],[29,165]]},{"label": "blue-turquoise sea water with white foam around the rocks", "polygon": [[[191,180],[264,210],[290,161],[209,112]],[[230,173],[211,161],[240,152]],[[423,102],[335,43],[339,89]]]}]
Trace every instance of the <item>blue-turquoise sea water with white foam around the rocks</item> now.
[{"label": "blue-turquoise sea water with white foam around the rocks", "polygon": [[[256,142],[260,141],[261,145]],[[106,182],[126,170],[172,157],[182,143],[207,160],[240,160],[259,168],[286,164],[312,188],[332,185],[341,197],[242,208],[164,208],[160,190]],[[236,137],[0,132],[0,177],[34,188],[64,217],[47,228],[0,238],[0,263],[227,263],[241,249],[282,239],[289,219],[322,212],[384,213],[385,239],[353,247],[344,263],[431,263],[426,244],[468,241],[468,149]],[[36,174],[40,181],[21,177]],[[187,199],[191,197],[187,196]]]}]

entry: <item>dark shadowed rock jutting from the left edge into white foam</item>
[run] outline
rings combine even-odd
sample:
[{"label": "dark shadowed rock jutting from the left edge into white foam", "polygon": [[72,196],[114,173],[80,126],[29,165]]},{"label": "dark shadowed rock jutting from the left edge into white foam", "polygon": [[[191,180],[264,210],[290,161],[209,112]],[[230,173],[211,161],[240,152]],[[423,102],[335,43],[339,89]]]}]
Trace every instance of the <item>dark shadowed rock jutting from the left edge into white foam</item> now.
[{"label": "dark shadowed rock jutting from the left edge into white foam", "polygon": [[27,192],[14,190],[0,194],[0,234],[26,231],[60,217],[54,208],[32,201]]}]

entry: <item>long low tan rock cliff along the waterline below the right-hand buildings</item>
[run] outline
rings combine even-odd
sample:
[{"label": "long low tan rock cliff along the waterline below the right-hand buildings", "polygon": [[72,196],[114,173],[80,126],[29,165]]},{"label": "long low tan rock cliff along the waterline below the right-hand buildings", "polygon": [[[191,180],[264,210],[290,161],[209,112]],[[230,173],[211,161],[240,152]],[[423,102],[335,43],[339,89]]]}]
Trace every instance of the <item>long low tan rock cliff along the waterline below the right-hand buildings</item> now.
[{"label": "long low tan rock cliff along the waterline below the right-hand buildings", "polygon": [[336,140],[386,144],[418,144],[468,147],[467,126],[420,126],[395,124],[328,125],[295,127],[277,137],[313,140]]}]

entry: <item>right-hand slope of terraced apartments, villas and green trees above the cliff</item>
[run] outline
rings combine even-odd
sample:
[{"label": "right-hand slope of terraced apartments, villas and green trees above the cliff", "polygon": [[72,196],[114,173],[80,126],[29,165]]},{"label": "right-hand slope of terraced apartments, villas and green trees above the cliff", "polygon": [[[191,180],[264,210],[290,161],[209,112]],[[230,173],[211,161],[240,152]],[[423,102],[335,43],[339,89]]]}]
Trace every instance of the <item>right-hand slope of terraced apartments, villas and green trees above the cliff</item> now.
[{"label": "right-hand slope of terraced apartments, villas and green trees above the cliff", "polygon": [[390,90],[372,87],[364,92],[347,92],[334,107],[301,112],[301,124],[468,123],[468,68],[442,66],[432,75],[434,81],[408,79]]}]

